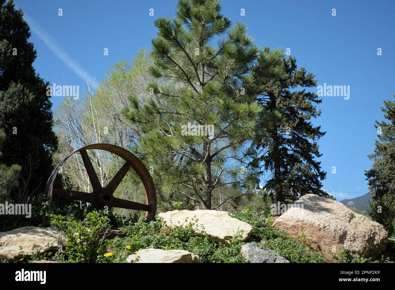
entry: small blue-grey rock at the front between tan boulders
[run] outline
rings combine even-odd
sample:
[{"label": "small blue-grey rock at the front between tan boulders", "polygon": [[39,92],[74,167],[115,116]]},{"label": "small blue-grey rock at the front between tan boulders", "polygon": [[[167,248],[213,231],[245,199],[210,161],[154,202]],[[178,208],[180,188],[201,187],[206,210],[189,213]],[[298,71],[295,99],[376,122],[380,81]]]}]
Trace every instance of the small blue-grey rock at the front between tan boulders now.
[{"label": "small blue-grey rock at the front between tan boulders", "polygon": [[261,249],[257,243],[246,243],[241,248],[241,254],[250,263],[289,263],[286,258],[280,256],[269,248]]}]

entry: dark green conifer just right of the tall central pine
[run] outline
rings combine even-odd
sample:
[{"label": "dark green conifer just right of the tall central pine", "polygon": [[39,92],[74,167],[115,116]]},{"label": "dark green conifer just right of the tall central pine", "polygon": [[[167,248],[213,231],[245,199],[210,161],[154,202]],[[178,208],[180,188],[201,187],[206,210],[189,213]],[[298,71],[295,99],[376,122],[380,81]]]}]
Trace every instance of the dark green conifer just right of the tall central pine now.
[{"label": "dark green conifer just right of the tall central pine", "polygon": [[316,140],[325,133],[310,122],[320,116],[316,104],[322,99],[305,89],[316,86],[316,80],[303,67],[297,69],[296,59],[291,57],[282,58],[275,73],[262,75],[261,68],[272,61],[273,52],[265,48],[254,69],[260,84],[257,102],[264,110],[252,142],[257,155],[251,164],[266,178],[263,190],[277,201],[297,200],[308,193],[326,196],[321,189],[326,172],[315,160],[322,156]]}]

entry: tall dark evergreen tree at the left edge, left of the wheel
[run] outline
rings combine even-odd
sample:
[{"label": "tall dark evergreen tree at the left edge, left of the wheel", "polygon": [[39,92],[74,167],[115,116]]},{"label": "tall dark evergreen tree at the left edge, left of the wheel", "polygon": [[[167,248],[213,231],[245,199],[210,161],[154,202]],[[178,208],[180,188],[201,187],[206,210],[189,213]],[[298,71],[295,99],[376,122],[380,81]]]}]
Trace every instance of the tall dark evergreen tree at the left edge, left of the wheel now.
[{"label": "tall dark evergreen tree at the left edge, left of the wheel", "polygon": [[[45,183],[56,148],[47,85],[32,66],[36,51],[30,29],[12,0],[0,0],[0,129],[5,133],[1,161],[22,167],[25,199]],[[22,197],[23,196],[23,197]]]}]

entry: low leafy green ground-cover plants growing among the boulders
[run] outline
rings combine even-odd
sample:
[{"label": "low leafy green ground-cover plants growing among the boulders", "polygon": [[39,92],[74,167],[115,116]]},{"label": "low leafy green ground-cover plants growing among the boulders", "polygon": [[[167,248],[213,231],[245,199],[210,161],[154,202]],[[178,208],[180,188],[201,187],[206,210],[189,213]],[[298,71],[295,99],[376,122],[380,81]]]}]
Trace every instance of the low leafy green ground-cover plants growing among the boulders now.
[{"label": "low leafy green ground-cover plants growing among the boulders", "polygon": [[[76,214],[77,215],[77,214]],[[80,214],[78,214],[80,215]],[[33,260],[57,260],[59,262],[126,262],[126,258],[135,251],[147,248],[179,249],[195,253],[201,263],[244,263],[241,255],[240,233],[229,239],[229,244],[216,242],[210,236],[195,234],[197,219],[186,220],[183,227],[169,228],[161,220],[146,223],[139,215],[131,219],[120,216],[111,218],[113,225],[118,225],[126,234],[124,238],[103,241],[103,234],[111,226],[111,213],[92,211],[86,213],[82,220],[64,215],[48,215],[51,224],[63,230],[69,239],[62,253],[34,254],[22,262]],[[233,217],[252,225],[252,235],[248,242],[257,242],[260,247],[268,247],[293,263],[322,263],[322,253],[311,248],[308,234],[288,237],[286,232],[273,229],[271,215],[260,216],[250,207],[233,215]],[[395,241],[389,240],[387,251],[395,252]],[[342,249],[334,255],[334,261],[342,263],[379,263],[391,262],[393,257],[382,256],[378,260],[365,258],[360,254],[351,254]],[[7,261],[6,261],[7,262]]]}]

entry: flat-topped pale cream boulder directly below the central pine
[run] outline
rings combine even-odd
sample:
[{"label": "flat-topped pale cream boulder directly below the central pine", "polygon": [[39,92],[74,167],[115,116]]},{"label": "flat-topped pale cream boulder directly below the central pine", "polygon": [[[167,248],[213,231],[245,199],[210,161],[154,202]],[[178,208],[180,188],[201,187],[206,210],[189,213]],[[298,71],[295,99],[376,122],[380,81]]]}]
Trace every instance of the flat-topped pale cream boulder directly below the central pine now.
[{"label": "flat-topped pale cream boulder directly below the central pine", "polygon": [[160,213],[169,227],[192,226],[199,236],[212,236],[219,243],[229,243],[237,237],[246,241],[252,233],[252,226],[230,216],[227,211],[216,210],[174,210]]}]

